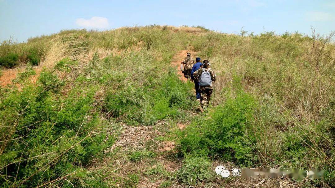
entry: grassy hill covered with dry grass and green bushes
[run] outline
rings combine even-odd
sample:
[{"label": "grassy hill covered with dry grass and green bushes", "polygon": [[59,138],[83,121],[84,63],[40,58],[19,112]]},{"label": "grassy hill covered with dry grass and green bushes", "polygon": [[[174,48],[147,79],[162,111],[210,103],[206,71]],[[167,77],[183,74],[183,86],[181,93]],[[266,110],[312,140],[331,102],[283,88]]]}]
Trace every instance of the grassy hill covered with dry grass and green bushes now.
[{"label": "grassy hill covered with dry grass and green bushes", "polygon": [[[4,41],[0,185],[334,187],[330,37],[153,25]],[[204,112],[171,63],[185,50],[217,74]],[[224,179],[219,164],[325,176]]]}]

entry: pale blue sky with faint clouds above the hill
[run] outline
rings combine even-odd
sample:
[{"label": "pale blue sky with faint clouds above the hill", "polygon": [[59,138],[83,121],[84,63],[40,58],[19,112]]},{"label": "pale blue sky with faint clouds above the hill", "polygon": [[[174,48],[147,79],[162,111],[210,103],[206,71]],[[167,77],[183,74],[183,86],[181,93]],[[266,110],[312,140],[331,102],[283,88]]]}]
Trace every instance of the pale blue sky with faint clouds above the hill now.
[{"label": "pale blue sky with faint clouds above the hill", "polygon": [[202,25],[239,33],[335,31],[334,0],[0,0],[0,40],[19,42],[62,29],[113,29],[133,25]]}]

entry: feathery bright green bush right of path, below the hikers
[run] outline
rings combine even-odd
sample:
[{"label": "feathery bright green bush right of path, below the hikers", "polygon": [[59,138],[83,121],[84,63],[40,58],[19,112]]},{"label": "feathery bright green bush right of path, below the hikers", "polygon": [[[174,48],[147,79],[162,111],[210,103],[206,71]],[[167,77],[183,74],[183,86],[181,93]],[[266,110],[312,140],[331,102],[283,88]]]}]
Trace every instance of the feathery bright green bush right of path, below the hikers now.
[{"label": "feathery bright green bush right of path, below the hikers", "polygon": [[[227,97],[205,119],[193,122],[180,134],[180,147],[184,153],[208,150],[208,154],[220,155],[242,166],[256,164],[251,136],[246,134],[252,126],[251,118],[255,100],[239,91],[236,98]],[[206,152],[204,152],[206,153]]]}]

